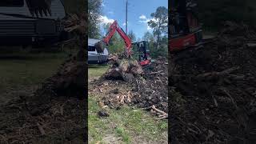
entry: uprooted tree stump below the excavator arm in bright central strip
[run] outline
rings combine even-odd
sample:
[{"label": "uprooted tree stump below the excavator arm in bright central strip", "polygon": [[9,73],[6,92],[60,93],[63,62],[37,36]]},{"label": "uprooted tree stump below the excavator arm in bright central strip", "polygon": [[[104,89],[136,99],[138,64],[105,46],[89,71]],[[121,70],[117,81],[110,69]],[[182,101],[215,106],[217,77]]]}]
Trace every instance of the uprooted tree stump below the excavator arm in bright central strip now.
[{"label": "uprooted tree stump below the excavator arm in bright central strip", "polygon": [[143,74],[142,66],[138,64],[137,60],[119,60],[118,56],[111,56],[110,59],[112,66],[104,74],[104,78],[113,80],[130,81],[133,80],[136,75]]}]

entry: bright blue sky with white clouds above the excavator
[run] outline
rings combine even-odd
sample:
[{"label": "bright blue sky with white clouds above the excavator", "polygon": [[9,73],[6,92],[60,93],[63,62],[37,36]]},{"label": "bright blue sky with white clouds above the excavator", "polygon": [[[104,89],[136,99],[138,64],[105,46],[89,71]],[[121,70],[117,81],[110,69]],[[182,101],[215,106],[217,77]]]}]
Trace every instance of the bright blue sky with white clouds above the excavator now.
[{"label": "bright blue sky with white clouds above the excavator", "polygon": [[[168,8],[168,0],[128,0],[128,31],[133,30],[136,38],[142,38],[146,31],[152,32],[146,22],[158,6]],[[113,20],[117,20],[119,26],[126,30],[126,0],[103,0],[102,22]]]}]

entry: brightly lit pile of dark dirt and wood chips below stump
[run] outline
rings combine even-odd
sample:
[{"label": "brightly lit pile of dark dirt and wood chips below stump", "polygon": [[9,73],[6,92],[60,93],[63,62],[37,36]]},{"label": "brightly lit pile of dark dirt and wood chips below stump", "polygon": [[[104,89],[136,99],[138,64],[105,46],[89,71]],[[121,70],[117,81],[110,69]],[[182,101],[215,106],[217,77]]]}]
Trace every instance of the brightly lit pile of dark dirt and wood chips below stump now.
[{"label": "brightly lit pile of dark dirt and wood chips below stump", "polygon": [[[101,78],[91,82],[94,90],[91,94],[101,95],[102,106],[119,107],[122,105],[151,108],[168,111],[166,58],[158,58],[148,66],[143,66],[142,74],[131,74],[127,80],[123,78],[110,78],[111,70]],[[161,112],[160,112],[161,113]],[[166,115],[165,115],[166,116]]]}]

